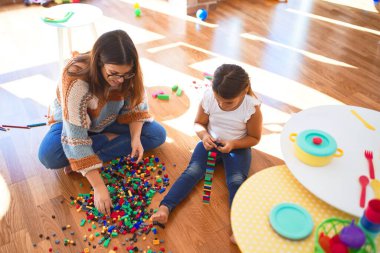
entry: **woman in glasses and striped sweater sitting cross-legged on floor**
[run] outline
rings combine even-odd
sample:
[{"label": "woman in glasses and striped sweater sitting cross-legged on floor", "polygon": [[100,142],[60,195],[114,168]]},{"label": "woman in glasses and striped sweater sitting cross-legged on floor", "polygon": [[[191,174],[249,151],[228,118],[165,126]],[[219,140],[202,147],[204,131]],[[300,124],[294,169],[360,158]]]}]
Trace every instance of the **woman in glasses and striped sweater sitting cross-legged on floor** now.
[{"label": "woman in glasses and striped sweater sitting cross-legged on floor", "polygon": [[103,162],[161,145],[165,129],[153,121],[135,45],[122,30],[107,32],[92,50],[65,67],[50,108],[51,128],[39,149],[50,169],[81,172],[94,188],[94,204],[110,213],[111,198],[98,169]]}]

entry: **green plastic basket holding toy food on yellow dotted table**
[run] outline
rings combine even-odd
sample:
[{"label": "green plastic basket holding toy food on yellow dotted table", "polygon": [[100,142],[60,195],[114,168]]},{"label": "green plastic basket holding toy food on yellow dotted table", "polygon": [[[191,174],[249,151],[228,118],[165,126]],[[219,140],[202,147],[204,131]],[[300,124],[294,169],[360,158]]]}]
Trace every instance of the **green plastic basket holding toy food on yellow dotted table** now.
[{"label": "green plastic basket holding toy food on yellow dotted table", "polygon": [[[315,230],[315,248],[314,253],[324,253],[325,251],[319,245],[319,235],[320,233],[324,233],[330,238],[336,234],[339,234],[340,231],[351,224],[349,220],[341,220],[337,218],[330,218],[323,221],[317,229]],[[366,242],[365,244],[358,250],[350,250],[350,253],[376,253],[376,246],[373,242],[372,238],[366,234]]]}]

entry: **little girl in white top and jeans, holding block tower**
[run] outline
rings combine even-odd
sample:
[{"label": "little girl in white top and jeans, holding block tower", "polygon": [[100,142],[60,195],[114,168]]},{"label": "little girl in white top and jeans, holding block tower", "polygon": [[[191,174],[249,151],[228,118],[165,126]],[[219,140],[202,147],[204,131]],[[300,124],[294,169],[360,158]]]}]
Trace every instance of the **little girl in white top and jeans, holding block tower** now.
[{"label": "little girl in white top and jeans, holding block tower", "polygon": [[212,90],[205,92],[195,118],[195,131],[202,141],[152,219],[166,223],[169,213],[204,178],[209,150],[223,160],[231,206],[248,176],[251,147],[259,143],[261,130],[260,101],[251,89],[248,74],[240,66],[223,64],[215,71]]}]

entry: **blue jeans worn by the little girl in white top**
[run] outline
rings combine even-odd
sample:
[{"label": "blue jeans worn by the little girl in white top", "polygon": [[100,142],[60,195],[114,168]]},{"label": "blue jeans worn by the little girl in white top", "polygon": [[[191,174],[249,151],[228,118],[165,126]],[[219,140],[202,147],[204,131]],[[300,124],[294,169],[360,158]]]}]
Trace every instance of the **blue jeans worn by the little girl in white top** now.
[{"label": "blue jeans worn by the little girl in white top", "polygon": [[[230,153],[221,153],[217,150],[212,151],[217,153],[217,159],[221,158],[223,161],[229,192],[229,204],[231,206],[237,190],[248,177],[252,158],[251,148],[235,149]],[[160,205],[165,205],[169,208],[169,211],[172,211],[190,194],[194,186],[205,176],[207,154],[208,151],[200,141],[195,147],[186,170],[181,174],[177,181],[175,181]],[[202,201],[202,196],[199,196],[199,201]]]}]

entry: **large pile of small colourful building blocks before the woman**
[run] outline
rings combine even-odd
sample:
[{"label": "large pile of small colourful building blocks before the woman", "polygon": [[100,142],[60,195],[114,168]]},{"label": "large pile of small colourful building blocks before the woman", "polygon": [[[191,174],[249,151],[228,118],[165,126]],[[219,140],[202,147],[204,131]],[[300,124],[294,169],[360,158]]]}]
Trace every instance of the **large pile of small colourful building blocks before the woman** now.
[{"label": "large pile of small colourful building blocks before the woman", "polygon": [[[104,252],[116,252],[118,247],[110,247],[112,239],[116,238],[123,246],[126,246],[123,248],[127,252],[165,252],[165,248],[162,247],[164,240],[160,240],[156,235],[157,229],[165,228],[165,226],[156,221],[149,221],[154,213],[153,209],[149,209],[153,196],[157,192],[163,193],[169,185],[169,177],[164,174],[165,170],[165,164],[160,163],[159,158],[154,156],[147,157],[138,164],[130,157],[121,157],[104,166],[101,169],[101,176],[113,204],[109,215],[104,215],[96,209],[93,191],[81,193],[76,198],[70,197],[71,205],[75,206],[78,212],[86,213],[79,225],[86,227],[88,234],[83,237],[83,241],[90,247],[82,252],[90,252],[91,247],[93,250],[101,247]],[[70,229],[70,227],[70,225],[64,226],[62,230]],[[146,249],[137,247],[135,243],[138,236],[141,236],[144,241],[149,240],[147,236],[150,232],[153,234],[152,249],[150,246]],[[74,235],[74,232],[72,233]],[[130,236],[122,240],[123,235]],[[56,244],[59,244],[59,240],[56,241],[58,242]],[[63,240],[63,244],[64,246],[76,245],[75,240],[69,239]],[[105,251],[108,247],[110,249]],[[58,250],[57,248],[55,252],[59,252]],[[49,251],[52,252],[53,248]]]}]

